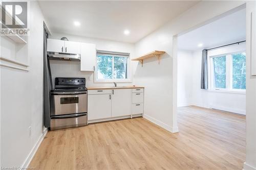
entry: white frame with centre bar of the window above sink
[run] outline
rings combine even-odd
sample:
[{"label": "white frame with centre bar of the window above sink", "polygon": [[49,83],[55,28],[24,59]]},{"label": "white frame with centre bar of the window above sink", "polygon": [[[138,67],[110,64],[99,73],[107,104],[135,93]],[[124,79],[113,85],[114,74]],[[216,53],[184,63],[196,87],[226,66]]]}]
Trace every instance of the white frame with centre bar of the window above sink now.
[{"label": "white frame with centre bar of the window above sink", "polygon": [[117,83],[131,83],[131,58],[130,56],[125,57],[127,58],[127,78],[126,79],[98,79],[97,78],[97,74],[98,74],[98,62],[97,62],[97,57],[98,56],[112,56],[112,75],[114,76],[114,57],[125,57],[125,56],[119,56],[119,55],[104,55],[104,54],[96,54],[95,57],[95,71],[94,71],[94,83],[113,83],[113,82],[117,82]]}]

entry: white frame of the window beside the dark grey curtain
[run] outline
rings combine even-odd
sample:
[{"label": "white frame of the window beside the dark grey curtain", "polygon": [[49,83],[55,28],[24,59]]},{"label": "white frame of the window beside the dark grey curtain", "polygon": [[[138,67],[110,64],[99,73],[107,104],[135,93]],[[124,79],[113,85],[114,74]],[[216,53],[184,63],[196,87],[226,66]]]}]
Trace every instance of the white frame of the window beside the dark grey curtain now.
[{"label": "white frame of the window beside the dark grey curtain", "polygon": [[[215,91],[215,92],[229,92],[229,93],[246,93],[246,89],[233,89],[233,60],[232,55],[234,54],[241,54],[246,53],[246,51],[239,51],[239,52],[233,52],[233,53],[226,53],[226,54],[220,54],[220,55],[214,55],[208,57],[208,82],[209,82],[209,91]],[[214,58],[216,57],[222,57],[226,56],[226,88],[216,88],[214,85]]]}]

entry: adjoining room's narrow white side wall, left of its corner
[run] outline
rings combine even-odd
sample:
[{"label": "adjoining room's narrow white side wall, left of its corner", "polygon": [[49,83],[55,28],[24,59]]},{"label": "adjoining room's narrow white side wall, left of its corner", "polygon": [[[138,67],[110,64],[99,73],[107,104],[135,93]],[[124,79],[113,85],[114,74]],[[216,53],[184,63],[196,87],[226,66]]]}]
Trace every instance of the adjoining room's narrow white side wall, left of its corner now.
[{"label": "adjoining room's narrow white side wall, left of its corner", "polygon": [[177,105],[189,106],[193,104],[193,52],[178,50],[177,61]]}]

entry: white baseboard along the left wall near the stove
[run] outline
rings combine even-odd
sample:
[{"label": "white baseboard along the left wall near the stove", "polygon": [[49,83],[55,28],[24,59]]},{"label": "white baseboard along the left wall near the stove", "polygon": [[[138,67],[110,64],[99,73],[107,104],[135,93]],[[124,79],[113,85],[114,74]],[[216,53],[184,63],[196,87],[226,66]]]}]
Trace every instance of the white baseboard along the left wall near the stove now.
[{"label": "white baseboard along the left wall near the stove", "polygon": [[42,132],[42,134],[39,136],[39,138],[36,141],[36,143],[34,144],[34,147],[30,151],[30,153],[29,153],[28,157],[26,158],[25,162],[23,163],[22,167],[28,167],[29,166],[29,164],[32,161],[32,159],[33,159],[37,149],[39,148],[42,140],[45,138],[47,132],[48,132],[48,129],[45,128],[44,131]]}]

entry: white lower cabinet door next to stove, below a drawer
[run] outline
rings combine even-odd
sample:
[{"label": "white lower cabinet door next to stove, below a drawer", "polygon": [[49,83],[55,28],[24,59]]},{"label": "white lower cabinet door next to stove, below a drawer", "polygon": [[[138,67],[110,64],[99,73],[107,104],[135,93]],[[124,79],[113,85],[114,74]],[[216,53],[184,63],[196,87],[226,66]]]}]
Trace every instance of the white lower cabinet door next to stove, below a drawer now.
[{"label": "white lower cabinet door next to stove, below a drawer", "polygon": [[111,94],[88,95],[88,120],[111,117]]}]

